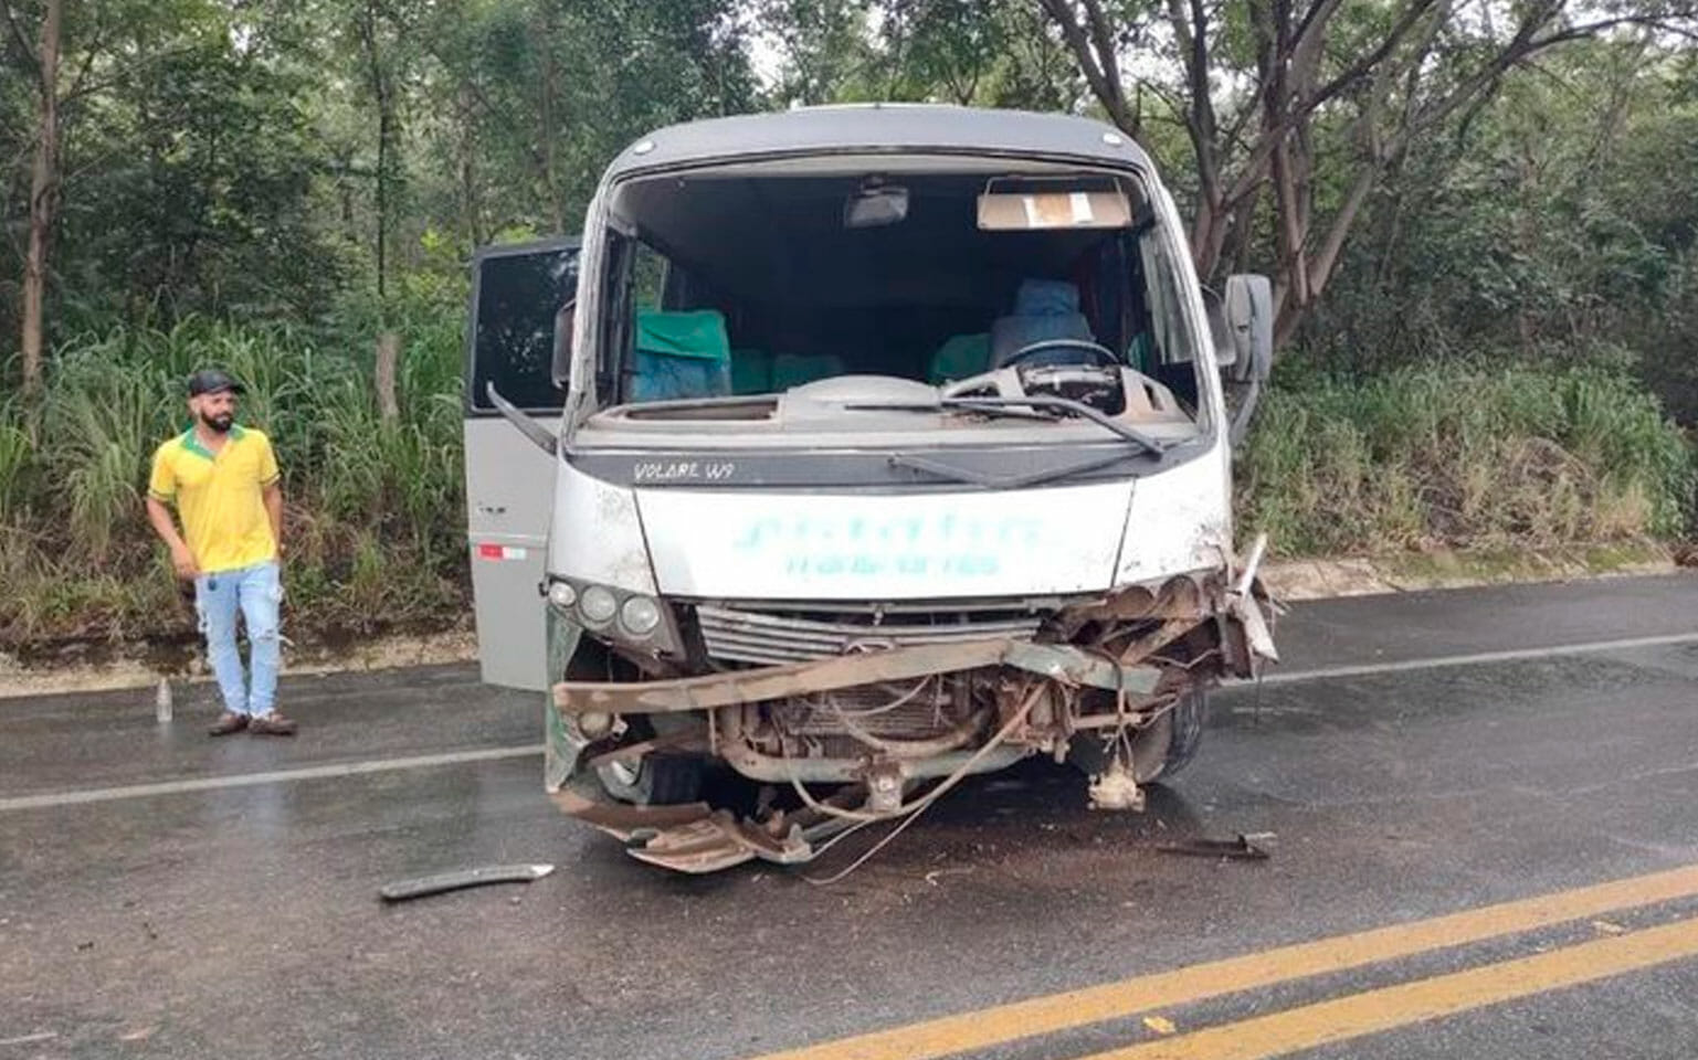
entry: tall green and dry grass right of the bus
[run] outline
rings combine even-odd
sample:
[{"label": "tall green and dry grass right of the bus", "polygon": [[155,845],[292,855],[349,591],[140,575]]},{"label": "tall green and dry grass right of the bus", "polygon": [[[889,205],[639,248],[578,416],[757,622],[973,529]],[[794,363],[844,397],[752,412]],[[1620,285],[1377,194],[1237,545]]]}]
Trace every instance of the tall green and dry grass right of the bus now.
[{"label": "tall green and dry grass right of the bus", "polygon": [[1282,378],[1238,466],[1287,555],[1555,548],[1679,534],[1693,451],[1605,366]]}]

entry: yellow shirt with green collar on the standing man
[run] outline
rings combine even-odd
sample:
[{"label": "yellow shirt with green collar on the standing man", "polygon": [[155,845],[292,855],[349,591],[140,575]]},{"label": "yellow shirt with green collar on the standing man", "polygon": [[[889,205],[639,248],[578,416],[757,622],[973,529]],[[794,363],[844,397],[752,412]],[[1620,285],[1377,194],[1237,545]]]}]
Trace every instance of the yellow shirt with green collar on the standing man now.
[{"label": "yellow shirt with green collar on the standing man", "polygon": [[195,565],[217,573],[277,558],[263,500],[263,488],[273,482],[277,456],[261,431],[231,427],[214,456],[188,427],[155,449],[148,495],[177,502]]}]

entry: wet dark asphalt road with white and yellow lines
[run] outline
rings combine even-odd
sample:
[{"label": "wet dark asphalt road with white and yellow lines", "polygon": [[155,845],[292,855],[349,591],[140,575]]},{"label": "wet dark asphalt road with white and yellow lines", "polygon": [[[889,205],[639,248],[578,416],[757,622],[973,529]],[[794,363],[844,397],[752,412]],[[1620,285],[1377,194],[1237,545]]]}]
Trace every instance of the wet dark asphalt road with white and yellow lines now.
[{"label": "wet dark asphalt road with white and yellow lines", "polygon": [[[1144,816],[1032,763],[861,870],[667,875],[467,668],[0,700],[12,1057],[1698,1055],[1698,578],[1306,604]],[[1267,862],[1161,853],[1274,833]],[[555,862],[382,906],[387,880]],[[873,1035],[871,1038],[868,1035]]]}]

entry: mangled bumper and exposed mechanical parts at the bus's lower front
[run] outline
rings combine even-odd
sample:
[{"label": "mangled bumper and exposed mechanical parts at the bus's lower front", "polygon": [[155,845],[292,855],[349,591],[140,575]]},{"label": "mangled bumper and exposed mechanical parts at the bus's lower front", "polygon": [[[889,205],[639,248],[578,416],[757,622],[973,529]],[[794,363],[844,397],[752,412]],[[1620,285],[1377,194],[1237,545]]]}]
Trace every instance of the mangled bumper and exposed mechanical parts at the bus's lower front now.
[{"label": "mangled bumper and exposed mechanical parts at the bus's lower front", "polygon": [[[762,799],[752,816],[608,804],[594,770],[586,778],[571,765],[557,799],[633,843],[633,856],[683,872],[805,862],[857,828],[898,821],[881,846],[963,778],[1036,753],[1085,770],[1094,807],[1141,811],[1143,785],[1195,750],[1202,690],[1272,658],[1253,568],[1231,585],[1228,573],[1075,602],[1043,616],[1036,639],[951,636],[664,680],[562,682],[554,704],[569,741],[586,714],[637,719],[589,762],[628,767],[667,748],[795,799]],[[555,753],[574,755],[569,743]]]}]

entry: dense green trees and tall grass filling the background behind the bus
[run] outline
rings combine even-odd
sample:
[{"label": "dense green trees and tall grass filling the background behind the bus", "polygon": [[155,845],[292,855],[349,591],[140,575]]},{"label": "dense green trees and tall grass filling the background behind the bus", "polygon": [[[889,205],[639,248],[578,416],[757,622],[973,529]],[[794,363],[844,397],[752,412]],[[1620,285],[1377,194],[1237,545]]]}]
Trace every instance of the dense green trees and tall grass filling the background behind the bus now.
[{"label": "dense green trees and tall grass filling the background behind the bus", "polygon": [[791,103],[1073,110],[1138,136],[1206,278],[1280,288],[1241,510],[1282,551],[1642,539],[1691,516],[1666,416],[1698,421],[1678,2],[0,14],[0,643],[187,633],[138,497],[204,363],[253,382],[285,463],[295,629],[457,621],[470,249],[576,229],[647,129]]}]

